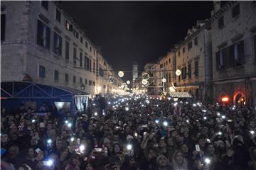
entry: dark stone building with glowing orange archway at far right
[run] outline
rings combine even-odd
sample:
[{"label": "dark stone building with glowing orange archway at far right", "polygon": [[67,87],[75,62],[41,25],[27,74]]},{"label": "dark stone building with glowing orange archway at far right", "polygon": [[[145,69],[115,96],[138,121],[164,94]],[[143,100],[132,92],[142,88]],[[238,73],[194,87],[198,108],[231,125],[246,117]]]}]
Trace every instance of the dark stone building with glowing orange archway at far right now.
[{"label": "dark stone building with glowing orange archway at far right", "polygon": [[256,3],[215,2],[210,17],[213,94],[229,104],[256,106]]}]

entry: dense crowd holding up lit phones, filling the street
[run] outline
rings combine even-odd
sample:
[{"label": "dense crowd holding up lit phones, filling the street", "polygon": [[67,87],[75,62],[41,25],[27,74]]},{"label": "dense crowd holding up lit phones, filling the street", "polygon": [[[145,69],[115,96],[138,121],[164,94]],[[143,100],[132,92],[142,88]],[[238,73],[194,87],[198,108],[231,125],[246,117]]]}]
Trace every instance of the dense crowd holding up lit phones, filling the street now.
[{"label": "dense crowd holding up lit phones, filling the street", "polygon": [[1,169],[256,169],[255,108],[132,94],[47,110],[2,109]]}]

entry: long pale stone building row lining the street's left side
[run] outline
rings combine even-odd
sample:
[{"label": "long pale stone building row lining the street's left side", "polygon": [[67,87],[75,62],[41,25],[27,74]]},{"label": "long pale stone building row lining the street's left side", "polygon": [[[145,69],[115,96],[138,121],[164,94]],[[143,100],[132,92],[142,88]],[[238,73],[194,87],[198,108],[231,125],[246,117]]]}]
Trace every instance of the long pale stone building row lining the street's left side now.
[{"label": "long pale stone building row lining the street's left side", "polygon": [[98,68],[109,65],[99,55],[58,2],[1,2],[1,81],[28,79],[94,95]]}]

